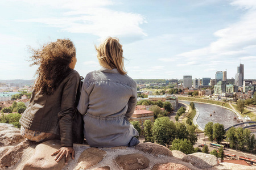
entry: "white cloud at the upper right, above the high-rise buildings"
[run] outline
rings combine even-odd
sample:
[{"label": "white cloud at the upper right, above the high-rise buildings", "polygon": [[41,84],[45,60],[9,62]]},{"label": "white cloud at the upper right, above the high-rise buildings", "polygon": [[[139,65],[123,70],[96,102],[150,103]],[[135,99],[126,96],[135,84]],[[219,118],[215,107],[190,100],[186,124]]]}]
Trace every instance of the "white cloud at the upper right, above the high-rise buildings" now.
[{"label": "white cloud at the upper right, above the high-rise buildings", "polygon": [[[187,63],[179,66],[192,65],[193,61],[204,60],[208,62],[220,59],[222,61],[238,60],[241,56],[255,54],[256,44],[256,1],[234,0],[231,5],[245,8],[240,20],[230,24],[229,27],[219,29],[213,35],[218,39],[205,45],[203,48],[180,53]],[[253,47],[252,47],[253,46]]]}]

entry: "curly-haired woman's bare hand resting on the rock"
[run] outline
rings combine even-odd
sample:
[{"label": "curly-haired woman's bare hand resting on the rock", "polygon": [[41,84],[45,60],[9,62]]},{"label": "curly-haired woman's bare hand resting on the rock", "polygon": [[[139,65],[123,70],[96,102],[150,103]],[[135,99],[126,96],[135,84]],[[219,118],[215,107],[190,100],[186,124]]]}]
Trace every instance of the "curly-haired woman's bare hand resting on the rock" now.
[{"label": "curly-haired woman's bare hand resting on the rock", "polygon": [[72,159],[75,159],[75,150],[73,150],[73,147],[61,147],[56,152],[53,152],[52,156],[55,154],[57,154],[54,159],[54,160],[56,160],[56,162],[59,162],[65,155],[65,164],[66,165],[68,164],[70,154],[72,154]]}]

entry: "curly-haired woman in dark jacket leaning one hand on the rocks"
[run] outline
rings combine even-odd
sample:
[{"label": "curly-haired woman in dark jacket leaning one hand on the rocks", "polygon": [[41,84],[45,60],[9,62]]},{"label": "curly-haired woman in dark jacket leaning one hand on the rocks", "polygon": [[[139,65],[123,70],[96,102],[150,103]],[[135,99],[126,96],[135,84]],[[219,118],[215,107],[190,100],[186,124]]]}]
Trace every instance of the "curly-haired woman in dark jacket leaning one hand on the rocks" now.
[{"label": "curly-haired woman in dark jacket leaning one hand on the rocks", "polygon": [[55,160],[70,154],[75,157],[72,141],[72,116],[75,109],[80,75],[73,70],[76,49],[69,39],[49,42],[31,49],[31,65],[39,65],[30,103],[20,118],[21,134],[30,141],[60,139],[61,148]]}]

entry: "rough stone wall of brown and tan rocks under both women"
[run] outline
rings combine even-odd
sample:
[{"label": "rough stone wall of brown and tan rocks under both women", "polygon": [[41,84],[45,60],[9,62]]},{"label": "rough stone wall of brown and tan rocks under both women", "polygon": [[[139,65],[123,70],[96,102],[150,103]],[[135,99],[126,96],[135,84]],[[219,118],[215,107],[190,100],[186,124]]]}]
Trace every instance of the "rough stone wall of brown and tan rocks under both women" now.
[{"label": "rough stone wall of brown and tan rocks under both women", "polygon": [[[217,163],[217,158],[209,154],[185,155],[180,151],[170,151],[154,143],[140,143],[135,147],[93,148],[75,144],[75,159],[65,165],[64,159],[55,162],[51,154],[60,148],[60,141],[43,143],[30,142],[18,137],[19,129],[8,124],[0,124],[0,131],[6,131],[8,145],[0,146],[0,169],[255,169],[230,163]],[[15,137],[17,135],[17,138]],[[18,139],[20,138],[20,139]],[[12,142],[11,140],[14,140]],[[16,140],[18,139],[18,140]],[[10,144],[12,143],[12,144]],[[15,143],[15,144],[14,144]]]}]

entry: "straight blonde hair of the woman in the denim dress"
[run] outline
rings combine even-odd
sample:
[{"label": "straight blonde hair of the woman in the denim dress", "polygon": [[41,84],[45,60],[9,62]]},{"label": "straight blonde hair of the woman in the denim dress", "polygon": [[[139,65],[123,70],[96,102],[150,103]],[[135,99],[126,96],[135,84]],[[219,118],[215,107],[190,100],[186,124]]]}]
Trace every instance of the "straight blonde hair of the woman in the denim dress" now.
[{"label": "straight blonde hair of the woman in the denim dress", "polygon": [[108,37],[105,41],[101,42],[98,48],[95,48],[97,50],[98,62],[102,67],[110,70],[117,69],[122,75],[127,73],[123,61],[122,45],[117,38]]}]

